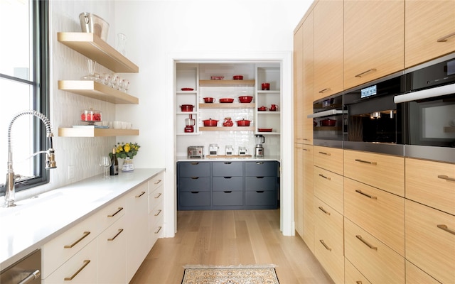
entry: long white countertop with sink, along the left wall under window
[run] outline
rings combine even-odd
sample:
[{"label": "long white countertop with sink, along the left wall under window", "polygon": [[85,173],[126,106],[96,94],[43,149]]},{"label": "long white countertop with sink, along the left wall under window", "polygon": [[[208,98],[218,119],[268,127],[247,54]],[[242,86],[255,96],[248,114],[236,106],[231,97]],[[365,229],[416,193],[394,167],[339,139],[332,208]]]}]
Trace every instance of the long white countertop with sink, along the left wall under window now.
[{"label": "long white countertop with sink, along the left wall under window", "polygon": [[97,175],[0,207],[0,271],[163,170],[135,169],[108,180]]}]

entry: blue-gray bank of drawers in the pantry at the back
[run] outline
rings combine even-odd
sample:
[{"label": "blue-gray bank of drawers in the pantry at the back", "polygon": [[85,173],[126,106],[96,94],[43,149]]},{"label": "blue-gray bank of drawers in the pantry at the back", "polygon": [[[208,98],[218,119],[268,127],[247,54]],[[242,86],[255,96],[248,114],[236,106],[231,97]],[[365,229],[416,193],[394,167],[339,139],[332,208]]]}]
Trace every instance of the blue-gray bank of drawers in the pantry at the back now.
[{"label": "blue-gray bank of drawers in the pantry at the back", "polygon": [[277,161],[177,163],[178,210],[277,209]]}]

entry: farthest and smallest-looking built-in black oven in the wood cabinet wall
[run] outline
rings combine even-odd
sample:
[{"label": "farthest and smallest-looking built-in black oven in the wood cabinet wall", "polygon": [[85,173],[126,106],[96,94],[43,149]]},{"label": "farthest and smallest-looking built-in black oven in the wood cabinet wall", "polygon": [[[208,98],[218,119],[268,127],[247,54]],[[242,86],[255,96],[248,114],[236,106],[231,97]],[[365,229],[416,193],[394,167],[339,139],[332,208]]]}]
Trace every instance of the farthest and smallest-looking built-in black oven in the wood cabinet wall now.
[{"label": "farthest and smallest-looking built-in black oven in the wood cabinet wall", "polygon": [[314,145],[343,148],[348,120],[342,93],[315,101],[313,114],[307,117],[313,119]]}]

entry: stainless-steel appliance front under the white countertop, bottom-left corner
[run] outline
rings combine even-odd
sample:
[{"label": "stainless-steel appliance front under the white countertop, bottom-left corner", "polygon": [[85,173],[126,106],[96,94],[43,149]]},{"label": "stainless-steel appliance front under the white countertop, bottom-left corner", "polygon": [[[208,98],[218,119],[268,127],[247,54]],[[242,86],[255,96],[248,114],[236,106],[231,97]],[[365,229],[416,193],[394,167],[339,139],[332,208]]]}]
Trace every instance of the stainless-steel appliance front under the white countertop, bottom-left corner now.
[{"label": "stainless-steel appliance front under the white countertop, bottom-left corner", "polygon": [[0,272],[1,284],[41,283],[41,250],[37,249]]}]

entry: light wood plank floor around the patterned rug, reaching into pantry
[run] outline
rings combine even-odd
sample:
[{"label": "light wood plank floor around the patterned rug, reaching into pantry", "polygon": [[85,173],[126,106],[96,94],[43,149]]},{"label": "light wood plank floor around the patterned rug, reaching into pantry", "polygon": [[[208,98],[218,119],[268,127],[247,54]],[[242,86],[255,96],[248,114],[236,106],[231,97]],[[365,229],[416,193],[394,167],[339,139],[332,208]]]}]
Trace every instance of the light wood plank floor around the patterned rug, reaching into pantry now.
[{"label": "light wood plank floor around the patterned rug, reaching into pantry", "polygon": [[186,264],[275,264],[280,284],[333,283],[299,236],[279,231],[279,210],[178,211],[176,236],[156,241],[131,283],[180,284]]}]

